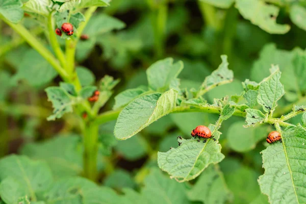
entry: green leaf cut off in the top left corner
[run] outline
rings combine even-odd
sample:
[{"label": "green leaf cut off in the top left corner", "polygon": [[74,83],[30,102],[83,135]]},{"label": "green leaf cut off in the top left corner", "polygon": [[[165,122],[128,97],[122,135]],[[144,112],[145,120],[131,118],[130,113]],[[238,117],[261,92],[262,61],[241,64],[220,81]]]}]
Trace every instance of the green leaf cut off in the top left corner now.
[{"label": "green leaf cut off in the top left corner", "polygon": [[23,18],[22,2],[20,0],[0,0],[0,14],[13,23]]}]

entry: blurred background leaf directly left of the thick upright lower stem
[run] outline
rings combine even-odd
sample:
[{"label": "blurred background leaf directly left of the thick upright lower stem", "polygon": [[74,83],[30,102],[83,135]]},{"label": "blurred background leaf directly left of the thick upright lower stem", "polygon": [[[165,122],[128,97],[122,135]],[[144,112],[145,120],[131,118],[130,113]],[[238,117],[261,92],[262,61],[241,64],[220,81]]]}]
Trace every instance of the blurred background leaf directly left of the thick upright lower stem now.
[{"label": "blurred background leaf directly left of the thick upright lower stem", "polygon": [[31,159],[46,161],[56,177],[72,176],[83,171],[81,147],[79,136],[59,135],[41,143],[25,144],[21,154]]}]

